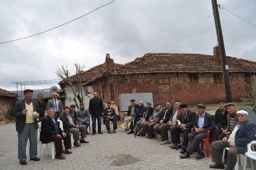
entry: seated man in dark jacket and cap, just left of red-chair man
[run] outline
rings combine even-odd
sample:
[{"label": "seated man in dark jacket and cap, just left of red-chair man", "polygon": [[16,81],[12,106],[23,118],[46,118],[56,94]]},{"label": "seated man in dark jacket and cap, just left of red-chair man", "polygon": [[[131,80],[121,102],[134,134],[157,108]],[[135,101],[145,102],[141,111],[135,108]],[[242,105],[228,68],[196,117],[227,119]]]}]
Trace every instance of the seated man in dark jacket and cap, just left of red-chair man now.
[{"label": "seated man in dark jacket and cap, just left of red-chair man", "polygon": [[180,148],[178,144],[180,144],[180,133],[183,132],[183,142],[182,142],[182,148],[180,153],[184,154],[187,151],[188,147],[188,134],[191,132],[191,128],[193,127],[194,118],[196,115],[196,112],[189,110],[188,106],[186,104],[181,104],[179,108],[181,114],[177,116],[177,120],[180,121],[180,126],[176,124],[174,128],[174,146],[172,146],[172,149],[178,149]]}]

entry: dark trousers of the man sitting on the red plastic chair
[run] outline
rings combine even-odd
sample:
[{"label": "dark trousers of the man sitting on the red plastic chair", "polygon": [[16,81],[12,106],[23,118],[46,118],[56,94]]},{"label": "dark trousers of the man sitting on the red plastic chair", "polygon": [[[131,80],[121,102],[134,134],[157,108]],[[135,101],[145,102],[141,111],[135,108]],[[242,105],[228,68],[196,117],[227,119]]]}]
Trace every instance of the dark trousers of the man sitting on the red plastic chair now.
[{"label": "dark trousers of the man sitting on the red plastic chair", "polygon": [[188,134],[188,139],[190,142],[190,147],[188,148],[188,153],[193,154],[194,152],[202,152],[200,149],[200,143],[203,138],[206,138],[206,132],[197,133],[196,131]]}]

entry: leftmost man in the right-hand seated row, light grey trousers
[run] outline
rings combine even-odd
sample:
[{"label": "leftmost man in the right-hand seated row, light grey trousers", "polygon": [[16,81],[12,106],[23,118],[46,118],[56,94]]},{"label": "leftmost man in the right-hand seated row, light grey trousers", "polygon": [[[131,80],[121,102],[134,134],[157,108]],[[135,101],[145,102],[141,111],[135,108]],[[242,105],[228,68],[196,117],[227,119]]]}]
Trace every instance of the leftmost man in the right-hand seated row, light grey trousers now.
[{"label": "leftmost man in the right-hand seated row, light grey trousers", "polygon": [[131,105],[128,106],[127,116],[124,117],[124,126],[125,126],[125,130],[124,131],[128,130],[128,123],[131,122],[131,124],[130,124],[130,132],[131,132],[131,134],[134,132],[133,131],[134,124],[132,122],[132,119],[134,119],[135,114],[136,114],[136,109],[138,107],[139,107],[139,105],[135,103],[134,99],[132,99],[131,100]]}]

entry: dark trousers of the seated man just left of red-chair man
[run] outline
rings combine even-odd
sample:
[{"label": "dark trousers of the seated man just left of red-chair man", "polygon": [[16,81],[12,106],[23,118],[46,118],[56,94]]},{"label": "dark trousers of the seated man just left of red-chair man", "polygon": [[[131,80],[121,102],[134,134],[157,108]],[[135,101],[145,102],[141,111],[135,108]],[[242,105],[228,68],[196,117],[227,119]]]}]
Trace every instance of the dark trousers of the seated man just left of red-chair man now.
[{"label": "dark trousers of the seated man just left of red-chair man", "polygon": [[185,130],[181,130],[181,128],[178,128],[177,126],[174,128],[174,144],[180,144],[180,133],[183,133],[183,142],[182,147],[187,148],[188,147],[188,134],[190,133],[191,128],[186,128]]}]

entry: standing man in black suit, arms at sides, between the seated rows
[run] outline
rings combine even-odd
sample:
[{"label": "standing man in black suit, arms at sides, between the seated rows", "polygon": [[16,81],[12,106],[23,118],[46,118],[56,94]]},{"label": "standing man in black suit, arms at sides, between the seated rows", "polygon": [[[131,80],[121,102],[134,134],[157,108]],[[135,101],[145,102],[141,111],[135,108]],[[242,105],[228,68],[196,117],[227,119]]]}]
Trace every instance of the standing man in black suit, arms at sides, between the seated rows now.
[{"label": "standing man in black suit, arms at sides, between the seated rows", "polygon": [[101,132],[101,115],[104,114],[103,101],[101,98],[98,98],[98,93],[93,93],[94,98],[90,99],[89,102],[89,112],[92,117],[92,135],[96,133],[96,119],[98,121],[98,133],[103,134]]}]

